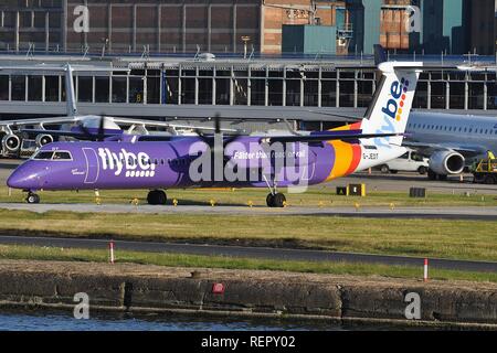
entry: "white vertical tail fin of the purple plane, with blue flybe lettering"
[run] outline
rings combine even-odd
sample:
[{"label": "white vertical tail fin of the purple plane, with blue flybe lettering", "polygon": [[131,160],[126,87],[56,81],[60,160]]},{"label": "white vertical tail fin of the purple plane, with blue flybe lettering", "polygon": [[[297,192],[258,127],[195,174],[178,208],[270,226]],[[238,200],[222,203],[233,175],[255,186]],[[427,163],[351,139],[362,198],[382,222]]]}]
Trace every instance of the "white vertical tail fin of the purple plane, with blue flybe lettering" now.
[{"label": "white vertical tail fin of the purple plane, with blue flybe lettering", "polygon": [[[363,133],[404,133],[423,63],[382,63],[383,73],[364,119]],[[403,137],[388,143],[401,146]]]}]

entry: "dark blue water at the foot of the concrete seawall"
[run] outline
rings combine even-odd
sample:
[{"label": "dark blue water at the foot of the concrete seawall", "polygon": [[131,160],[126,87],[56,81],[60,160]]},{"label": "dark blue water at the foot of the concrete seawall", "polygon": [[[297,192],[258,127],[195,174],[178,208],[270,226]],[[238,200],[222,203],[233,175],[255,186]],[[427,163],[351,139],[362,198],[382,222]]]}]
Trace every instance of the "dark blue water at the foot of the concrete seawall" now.
[{"label": "dark blue water at the foot of the concrete seawall", "polygon": [[94,314],[76,320],[71,312],[2,312],[0,331],[342,331],[325,322],[278,320],[226,320],[189,315]]}]

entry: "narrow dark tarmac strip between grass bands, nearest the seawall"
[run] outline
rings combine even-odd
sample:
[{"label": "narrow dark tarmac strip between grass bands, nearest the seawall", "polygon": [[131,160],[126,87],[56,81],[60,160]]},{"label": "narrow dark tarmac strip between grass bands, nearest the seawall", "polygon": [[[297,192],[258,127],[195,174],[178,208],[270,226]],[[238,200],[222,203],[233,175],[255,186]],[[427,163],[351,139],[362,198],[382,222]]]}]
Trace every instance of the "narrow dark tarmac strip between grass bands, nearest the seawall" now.
[{"label": "narrow dark tarmac strip between grass bands, nearest the seawall", "polygon": [[[0,236],[2,245],[47,246],[60,248],[84,248],[106,249],[108,239],[96,238],[60,238],[60,237],[24,237],[24,236]],[[357,263],[396,266],[419,266],[420,271],[424,265],[424,258],[406,256],[385,256],[355,253],[335,253],[307,249],[282,249],[268,247],[245,246],[221,246],[203,244],[173,244],[157,242],[128,242],[115,240],[115,252],[118,257],[119,250],[187,254],[201,256],[228,256],[236,258],[277,259],[294,261],[329,261],[329,263]],[[496,272],[497,263],[465,261],[451,259],[430,259],[431,268]]]}]

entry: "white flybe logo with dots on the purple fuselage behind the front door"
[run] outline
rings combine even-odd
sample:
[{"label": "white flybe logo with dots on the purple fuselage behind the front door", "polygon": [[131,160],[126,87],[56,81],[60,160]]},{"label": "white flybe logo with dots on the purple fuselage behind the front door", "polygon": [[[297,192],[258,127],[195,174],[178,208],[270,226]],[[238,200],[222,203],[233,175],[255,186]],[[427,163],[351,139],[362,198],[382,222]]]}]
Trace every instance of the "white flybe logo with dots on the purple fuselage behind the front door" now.
[{"label": "white flybe logo with dots on the purple fuselage behind the front door", "polygon": [[112,170],[116,176],[125,173],[126,178],[152,178],[156,174],[156,164],[151,163],[147,153],[138,154],[126,151],[112,152],[108,148],[99,148],[98,156],[103,170]]}]

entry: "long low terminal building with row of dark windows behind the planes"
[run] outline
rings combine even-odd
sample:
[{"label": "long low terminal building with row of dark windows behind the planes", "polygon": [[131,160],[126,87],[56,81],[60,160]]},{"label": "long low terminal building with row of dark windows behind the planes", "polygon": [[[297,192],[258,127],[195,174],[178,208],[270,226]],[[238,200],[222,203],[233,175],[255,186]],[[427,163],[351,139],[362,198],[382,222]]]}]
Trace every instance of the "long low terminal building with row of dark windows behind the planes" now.
[{"label": "long low terminal building with row of dark windows behind the planes", "polygon": [[[47,57],[17,58],[18,65],[46,63]],[[76,74],[78,106],[88,114],[140,117],[200,118],[230,109],[247,118],[307,119],[310,109],[359,111],[371,101],[379,74],[371,58],[342,60],[201,60],[57,57],[52,62],[110,65],[123,72]],[[11,65],[12,57],[0,57]],[[0,114],[17,116],[65,114],[63,75],[1,73]],[[20,104],[23,103],[23,104]],[[341,109],[343,108],[343,109]],[[422,74],[414,108],[454,109],[491,114],[497,109],[496,72],[441,71]],[[319,117],[316,114],[314,117]]]}]

